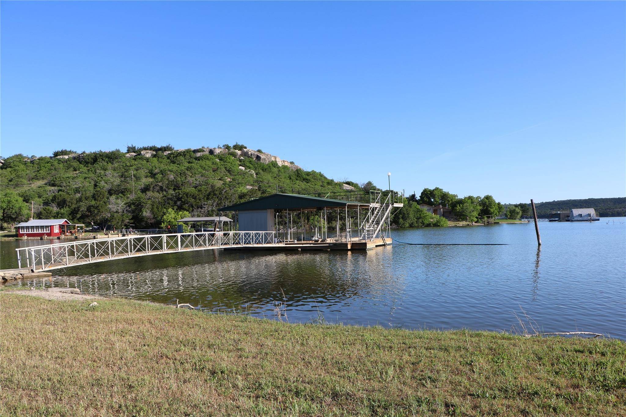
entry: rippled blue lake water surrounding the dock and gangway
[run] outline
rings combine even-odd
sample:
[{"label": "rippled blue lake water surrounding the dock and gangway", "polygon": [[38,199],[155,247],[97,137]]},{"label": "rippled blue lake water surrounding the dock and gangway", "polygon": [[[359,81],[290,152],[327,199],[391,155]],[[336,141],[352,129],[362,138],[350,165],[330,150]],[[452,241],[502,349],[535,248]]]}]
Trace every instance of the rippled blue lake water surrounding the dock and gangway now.
[{"label": "rippled blue lake water surrounding the dock and gangway", "polygon": [[[521,309],[543,331],[584,330],[626,339],[626,218],[399,229],[410,246],[362,252],[197,251],[119,259],[53,271],[8,286],[71,286],[85,293],[287,321],[510,331]],[[18,246],[3,241],[3,268]],[[282,304],[281,304],[282,303]],[[285,320],[285,317],[282,316]]]}]

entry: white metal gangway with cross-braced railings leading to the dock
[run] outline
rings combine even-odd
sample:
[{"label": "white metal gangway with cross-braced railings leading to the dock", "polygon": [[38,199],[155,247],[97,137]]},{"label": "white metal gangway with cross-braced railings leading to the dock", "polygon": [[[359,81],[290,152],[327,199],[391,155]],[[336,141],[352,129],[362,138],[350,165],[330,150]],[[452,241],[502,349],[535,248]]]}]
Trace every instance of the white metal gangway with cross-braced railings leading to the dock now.
[{"label": "white metal gangway with cross-braced railings leading to the dock", "polygon": [[282,246],[275,232],[200,232],[123,236],[69,243],[44,244],[15,249],[19,268],[33,271],[65,268],[111,259],[133,258],[158,253],[200,251],[245,246]]}]

